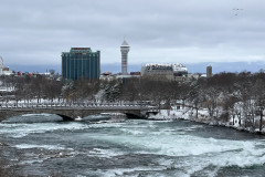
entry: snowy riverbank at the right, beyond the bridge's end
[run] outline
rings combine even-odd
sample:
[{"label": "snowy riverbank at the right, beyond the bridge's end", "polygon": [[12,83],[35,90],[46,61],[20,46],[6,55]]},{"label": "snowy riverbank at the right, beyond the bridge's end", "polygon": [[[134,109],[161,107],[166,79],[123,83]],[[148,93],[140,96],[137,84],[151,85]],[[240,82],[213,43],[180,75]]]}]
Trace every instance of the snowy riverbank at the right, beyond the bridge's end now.
[{"label": "snowy riverbank at the right, beyond the bridge's end", "polygon": [[[258,128],[255,128],[254,131],[251,127],[244,127],[244,118],[242,117],[242,124],[240,125],[239,117],[235,116],[234,121],[231,117],[229,122],[221,122],[216,121],[210,117],[208,110],[199,110],[198,111],[198,118],[195,117],[197,113],[195,110],[191,108],[179,108],[172,107],[171,110],[160,110],[160,112],[157,115],[150,115],[149,119],[187,119],[187,121],[193,121],[198,123],[204,123],[208,125],[215,125],[215,126],[225,126],[230,128],[235,128],[237,131],[244,131],[250,133],[258,133],[265,135],[265,128],[259,132]],[[255,117],[255,119],[258,122],[259,117]]]}]

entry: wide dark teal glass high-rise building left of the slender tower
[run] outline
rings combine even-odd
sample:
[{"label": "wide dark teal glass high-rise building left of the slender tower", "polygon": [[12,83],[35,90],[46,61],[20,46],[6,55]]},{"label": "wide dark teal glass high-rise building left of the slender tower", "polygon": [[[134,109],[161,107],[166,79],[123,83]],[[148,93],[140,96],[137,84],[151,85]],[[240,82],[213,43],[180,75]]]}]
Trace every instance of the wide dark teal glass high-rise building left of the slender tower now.
[{"label": "wide dark teal glass high-rise building left of the slender tower", "polygon": [[62,53],[63,80],[98,80],[100,76],[100,52],[91,48],[71,48]]}]

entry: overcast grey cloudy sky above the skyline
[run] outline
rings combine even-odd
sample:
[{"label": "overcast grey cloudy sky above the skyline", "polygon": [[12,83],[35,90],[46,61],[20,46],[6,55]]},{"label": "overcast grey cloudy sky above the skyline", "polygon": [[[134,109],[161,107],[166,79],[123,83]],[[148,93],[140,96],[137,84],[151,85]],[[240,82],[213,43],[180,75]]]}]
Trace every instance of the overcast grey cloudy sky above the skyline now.
[{"label": "overcast grey cloudy sky above the skyline", "polygon": [[71,46],[119,63],[124,38],[129,64],[265,61],[265,0],[0,0],[0,22],[6,65],[61,65]]}]

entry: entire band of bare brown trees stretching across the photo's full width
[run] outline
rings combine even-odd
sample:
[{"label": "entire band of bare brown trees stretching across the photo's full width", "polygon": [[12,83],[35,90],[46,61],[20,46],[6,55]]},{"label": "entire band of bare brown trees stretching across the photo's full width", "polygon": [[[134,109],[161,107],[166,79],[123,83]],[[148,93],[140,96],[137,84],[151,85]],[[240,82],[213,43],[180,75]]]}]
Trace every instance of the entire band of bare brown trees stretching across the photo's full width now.
[{"label": "entire band of bare brown trees stretching across the photo's full width", "polygon": [[[41,98],[60,102],[121,102],[151,101],[169,108],[181,103],[198,112],[206,108],[210,118],[227,122],[240,118],[244,126],[256,126],[255,117],[265,106],[265,73],[219,73],[187,82],[153,79],[128,79],[114,81],[62,81],[39,77],[1,77],[2,86],[13,87],[17,102]],[[10,94],[9,94],[10,95]],[[6,100],[4,100],[6,98]],[[2,93],[2,102],[8,102]]]}]

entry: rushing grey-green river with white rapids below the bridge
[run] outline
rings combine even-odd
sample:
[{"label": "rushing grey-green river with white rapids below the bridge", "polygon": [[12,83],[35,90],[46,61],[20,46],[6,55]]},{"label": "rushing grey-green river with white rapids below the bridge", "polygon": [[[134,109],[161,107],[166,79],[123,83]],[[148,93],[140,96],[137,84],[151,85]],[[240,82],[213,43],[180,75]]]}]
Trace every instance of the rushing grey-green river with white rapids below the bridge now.
[{"label": "rushing grey-green river with white rapids below the bridge", "polygon": [[265,137],[187,121],[0,123],[1,156],[17,173],[49,176],[265,176]]}]

